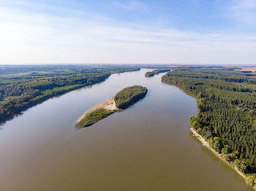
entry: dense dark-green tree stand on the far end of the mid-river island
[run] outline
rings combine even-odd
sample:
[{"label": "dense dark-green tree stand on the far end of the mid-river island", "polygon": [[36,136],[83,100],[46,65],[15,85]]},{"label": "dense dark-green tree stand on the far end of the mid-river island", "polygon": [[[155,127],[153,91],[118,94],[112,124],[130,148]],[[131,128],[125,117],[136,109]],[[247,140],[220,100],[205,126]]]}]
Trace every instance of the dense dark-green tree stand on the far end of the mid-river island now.
[{"label": "dense dark-green tree stand on the far end of the mid-river island", "polygon": [[115,97],[116,107],[119,109],[126,109],[127,107],[135,104],[136,101],[144,98],[148,89],[139,85],[126,87],[124,90],[118,92]]}]

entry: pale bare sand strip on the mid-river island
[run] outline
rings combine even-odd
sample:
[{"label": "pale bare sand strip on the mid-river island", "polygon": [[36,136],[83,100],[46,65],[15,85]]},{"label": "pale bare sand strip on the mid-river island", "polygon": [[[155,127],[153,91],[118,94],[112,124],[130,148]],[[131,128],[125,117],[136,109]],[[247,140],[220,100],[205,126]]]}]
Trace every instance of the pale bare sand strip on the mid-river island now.
[{"label": "pale bare sand strip on the mid-river island", "polygon": [[81,117],[79,117],[78,122],[80,122],[81,120],[83,120],[83,117],[86,117],[86,114],[88,114],[89,112],[93,112],[96,109],[108,109],[108,110],[112,110],[112,111],[118,111],[118,108],[116,107],[116,103],[114,101],[114,98],[109,98],[106,101],[102,101],[101,103],[91,107],[90,109],[88,109]]}]

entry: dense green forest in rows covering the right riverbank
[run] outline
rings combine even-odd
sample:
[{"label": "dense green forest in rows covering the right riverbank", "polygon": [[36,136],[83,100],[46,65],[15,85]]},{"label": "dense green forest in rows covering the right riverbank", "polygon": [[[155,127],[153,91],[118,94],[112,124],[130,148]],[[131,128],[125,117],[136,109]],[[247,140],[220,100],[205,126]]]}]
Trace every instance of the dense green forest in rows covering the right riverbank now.
[{"label": "dense green forest in rows covering the right riverbank", "polygon": [[[256,78],[234,69],[176,69],[162,82],[197,98],[191,125],[213,149],[244,174],[256,173]],[[255,184],[255,175],[249,184]]]}]

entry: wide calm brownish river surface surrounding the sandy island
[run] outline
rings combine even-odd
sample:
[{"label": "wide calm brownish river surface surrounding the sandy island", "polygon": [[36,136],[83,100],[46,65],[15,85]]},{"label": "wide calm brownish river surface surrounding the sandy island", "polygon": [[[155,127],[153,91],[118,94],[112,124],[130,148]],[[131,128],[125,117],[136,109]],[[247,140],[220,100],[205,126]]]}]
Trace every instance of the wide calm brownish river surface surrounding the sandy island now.
[{"label": "wide calm brownish river surface surrounding the sandy island", "polygon": [[[1,126],[0,190],[252,190],[189,132],[195,99],[146,71],[113,74]],[[148,95],[75,128],[83,112],[129,85]]]}]

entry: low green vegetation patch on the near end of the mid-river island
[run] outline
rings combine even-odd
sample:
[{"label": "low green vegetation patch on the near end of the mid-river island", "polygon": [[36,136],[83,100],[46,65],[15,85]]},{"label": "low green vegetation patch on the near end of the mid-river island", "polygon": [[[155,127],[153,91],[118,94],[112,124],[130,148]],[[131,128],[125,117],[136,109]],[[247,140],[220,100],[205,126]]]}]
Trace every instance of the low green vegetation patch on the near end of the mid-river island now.
[{"label": "low green vegetation patch on the near end of the mid-river island", "polygon": [[93,112],[90,112],[89,114],[86,114],[86,117],[83,118],[80,122],[78,122],[79,128],[85,128],[87,126],[90,126],[94,124],[95,122],[98,122],[99,120],[104,119],[105,117],[108,117],[110,114],[113,114],[115,111],[113,110],[107,110],[107,109],[97,109]]}]

